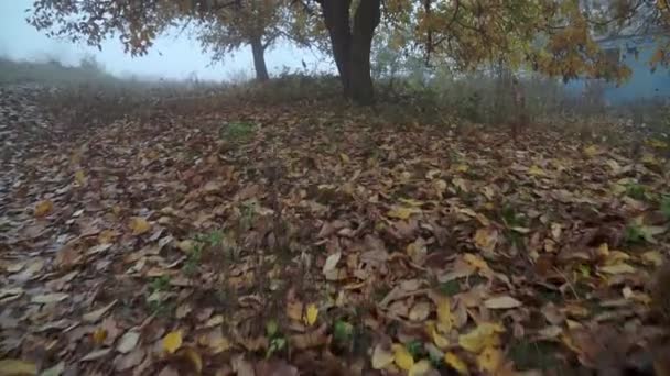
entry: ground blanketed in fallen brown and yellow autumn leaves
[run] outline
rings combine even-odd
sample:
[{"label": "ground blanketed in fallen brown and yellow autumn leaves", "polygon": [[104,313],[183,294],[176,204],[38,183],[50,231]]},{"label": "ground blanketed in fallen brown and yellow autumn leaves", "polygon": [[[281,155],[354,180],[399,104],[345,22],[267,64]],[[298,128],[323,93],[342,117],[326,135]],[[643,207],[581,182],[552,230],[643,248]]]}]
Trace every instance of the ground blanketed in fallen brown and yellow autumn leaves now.
[{"label": "ground blanketed in fallen brown and yellow autumn leaves", "polygon": [[613,375],[663,349],[661,141],[202,99],[88,126],[3,90],[0,374]]}]

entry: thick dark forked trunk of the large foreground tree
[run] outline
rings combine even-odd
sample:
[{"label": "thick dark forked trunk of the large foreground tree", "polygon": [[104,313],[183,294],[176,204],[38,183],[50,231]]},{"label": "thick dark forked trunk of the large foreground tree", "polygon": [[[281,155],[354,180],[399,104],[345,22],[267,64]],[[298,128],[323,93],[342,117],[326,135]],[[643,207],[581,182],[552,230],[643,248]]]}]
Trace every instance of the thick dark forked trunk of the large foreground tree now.
[{"label": "thick dark forked trunk of the large foreground tree", "polygon": [[370,51],[379,25],[381,0],[361,0],[350,24],[350,0],[321,0],[333,57],[346,98],[358,104],[375,100],[370,74]]}]

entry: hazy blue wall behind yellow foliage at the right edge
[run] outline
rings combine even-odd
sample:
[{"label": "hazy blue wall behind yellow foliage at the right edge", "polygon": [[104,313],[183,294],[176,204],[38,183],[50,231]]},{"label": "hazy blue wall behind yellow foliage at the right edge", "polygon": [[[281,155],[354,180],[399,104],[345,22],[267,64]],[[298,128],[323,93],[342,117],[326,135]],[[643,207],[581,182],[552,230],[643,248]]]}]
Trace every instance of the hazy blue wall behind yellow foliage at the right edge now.
[{"label": "hazy blue wall behind yellow foliage at the right edge", "polygon": [[[658,66],[655,71],[649,67],[649,60],[656,51],[657,42],[651,37],[629,37],[608,41],[602,44],[605,49],[619,48],[619,58],[631,70],[633,75],[620,86],[606,84],[604,99],[609,104],[637,100],[670,98],[670,69]],[[637,57],[635,51],[637,49]],[[583,79],[571,80],[565,87],[575,96],[584,90]]]}]

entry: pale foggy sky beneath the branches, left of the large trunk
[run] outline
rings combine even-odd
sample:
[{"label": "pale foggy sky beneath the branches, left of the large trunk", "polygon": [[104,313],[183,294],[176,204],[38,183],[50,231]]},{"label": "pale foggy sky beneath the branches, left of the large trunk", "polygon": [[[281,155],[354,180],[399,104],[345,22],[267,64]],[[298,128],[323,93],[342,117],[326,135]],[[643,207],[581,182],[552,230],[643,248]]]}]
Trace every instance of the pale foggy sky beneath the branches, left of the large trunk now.
[{"label": "pale foggy sky beneath the branches, left of the large trunk", "polygon": [[[66,41],[52,40],[25,22],[25,10],[32,0],[0,0],[0,55],[14,59],[45,59],[76,65],[86,54],[93,54],[105,68],[118,76],[136,74],[151,77],[185,78],[192,73],[204,79],[229,79],[240,75],[253,77],[251,51],[245,47],[230,58],[214,66],[209,56],[203,54],[197,42],[190,40],[187,32],[177,31],[159,37],[148,55],[131,57],[123,53],[118,40],[102,44],[102,51],[86,45],[75,45]],[[159,54],[159,52],[162,54]],[[283,44],[266,54],[270,74],[282,68],[302,69],[302,60],[310,69],[333,70],[329,59],[316,52],[303,51]]]}]

